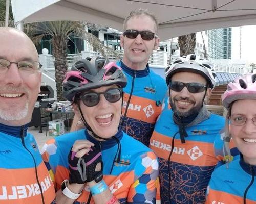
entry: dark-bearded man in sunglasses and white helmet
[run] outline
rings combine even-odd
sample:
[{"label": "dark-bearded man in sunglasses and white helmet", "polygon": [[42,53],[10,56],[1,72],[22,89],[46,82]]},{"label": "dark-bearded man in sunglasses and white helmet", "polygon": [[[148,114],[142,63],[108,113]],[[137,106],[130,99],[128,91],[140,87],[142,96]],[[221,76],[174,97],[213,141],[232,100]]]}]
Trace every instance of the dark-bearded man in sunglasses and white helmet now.
[{"label": "dark-bearded man in sunglasses and white helmet", "polygon": [[222,159],[214,141],[219,141],[224,118],[204,105],[216,81],[210,65],[182,57],[165,77],[169,88],[165,106],[172,109],[164,108],[150,142],[159,157],[161,202],[204,203],[210,175]]}]

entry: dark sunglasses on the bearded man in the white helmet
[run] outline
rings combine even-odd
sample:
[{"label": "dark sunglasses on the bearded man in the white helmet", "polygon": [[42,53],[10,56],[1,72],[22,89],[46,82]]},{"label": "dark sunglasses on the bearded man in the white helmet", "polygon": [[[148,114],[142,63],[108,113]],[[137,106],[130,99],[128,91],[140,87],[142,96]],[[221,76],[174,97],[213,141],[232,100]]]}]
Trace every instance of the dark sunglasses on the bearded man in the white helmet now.
[{"label": "dark sunglasses on the bearded man in the white helmet", "polygon": [[170,81],[169,87],[173,91],[180,92],[184,87],[187,87],[187,90],[190,93],[199,93],[205,91],[205,88],[207,87],[204,84],[197,83],[197,82],[190,82],[190,83],[183,83],[183,82],[177,82],[177,81]]}]

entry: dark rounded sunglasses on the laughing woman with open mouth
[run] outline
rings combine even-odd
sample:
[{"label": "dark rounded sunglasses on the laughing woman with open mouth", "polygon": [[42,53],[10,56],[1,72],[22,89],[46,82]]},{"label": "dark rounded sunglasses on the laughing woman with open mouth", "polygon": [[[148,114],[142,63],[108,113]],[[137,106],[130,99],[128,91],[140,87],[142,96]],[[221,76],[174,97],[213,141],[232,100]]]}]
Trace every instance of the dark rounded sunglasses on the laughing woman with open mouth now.
[{"label": "dark rounded sunglasses on the laughing woman with open mouth", "polygon": [[78,98],[82,100],[83,104],[92,107],[96,106],[100,100],[100,94],[105,96],[105,99],[111,103],[115,103],[120,100],[122,96],[123,89],[121,88],[112,88],[108,89],[104,92],[96,93],[96,92],[87,92],[80,95]]}]

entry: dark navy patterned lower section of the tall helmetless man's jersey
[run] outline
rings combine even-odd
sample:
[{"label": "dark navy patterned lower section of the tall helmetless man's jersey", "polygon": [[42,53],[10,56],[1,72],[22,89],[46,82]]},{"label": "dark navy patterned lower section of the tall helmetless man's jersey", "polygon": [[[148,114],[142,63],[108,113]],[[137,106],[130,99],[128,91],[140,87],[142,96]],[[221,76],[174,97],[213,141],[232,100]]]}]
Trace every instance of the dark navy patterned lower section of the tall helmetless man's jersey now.
[{"label": "dark navy patterned lower section of the tall helmetless man's jersey", "polygon": [[144,122],[141,120],[136,120],[129,117],[121,118],[122,131],[127,135],[132,136],[134,139],[142,142],[144,145],[150,145],[150,138],[154,131],[155,124]]}]

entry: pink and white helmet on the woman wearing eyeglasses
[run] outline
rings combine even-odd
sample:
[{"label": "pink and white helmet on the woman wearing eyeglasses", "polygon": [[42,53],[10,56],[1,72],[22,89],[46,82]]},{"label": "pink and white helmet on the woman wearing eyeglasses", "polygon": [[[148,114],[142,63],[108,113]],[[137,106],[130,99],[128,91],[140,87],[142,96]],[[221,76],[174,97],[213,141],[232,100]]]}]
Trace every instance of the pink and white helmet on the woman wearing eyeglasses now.
[{"label": "pink and white helmet on the woman wearing eyeglasses", "polygon": [[223,106],[227,109],[233,101],[256,99],[256,73],[244,74],[230,82],[221,98]]}]

